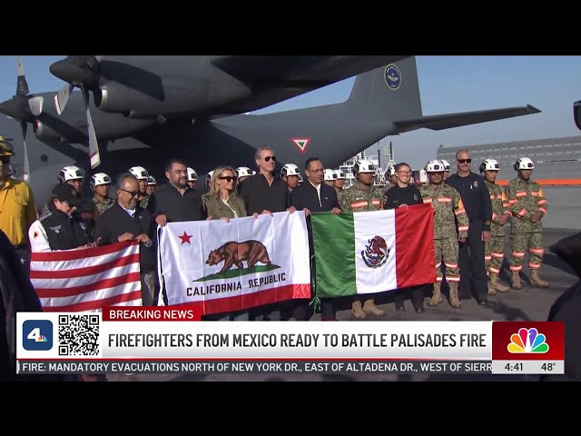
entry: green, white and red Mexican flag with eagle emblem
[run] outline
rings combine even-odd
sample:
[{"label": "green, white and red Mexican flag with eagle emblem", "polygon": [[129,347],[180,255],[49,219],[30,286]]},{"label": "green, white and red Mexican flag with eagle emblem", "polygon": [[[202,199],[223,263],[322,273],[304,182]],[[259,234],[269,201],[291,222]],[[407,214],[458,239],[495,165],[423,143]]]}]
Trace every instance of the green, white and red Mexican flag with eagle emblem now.
[{"label": "green, white and red Mexican flag with eagle emblem", "polygon": [[313,213],[317,295],[340,297],[436,282],[433,222],[429,204]]}]

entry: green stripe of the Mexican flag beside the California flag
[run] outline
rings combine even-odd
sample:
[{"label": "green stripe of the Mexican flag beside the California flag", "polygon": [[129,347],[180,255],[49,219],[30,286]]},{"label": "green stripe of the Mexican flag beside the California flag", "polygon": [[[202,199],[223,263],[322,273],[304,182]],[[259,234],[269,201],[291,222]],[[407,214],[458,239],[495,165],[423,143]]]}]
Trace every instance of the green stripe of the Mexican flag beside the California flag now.
[{"label": "green stripe of the Mexican flag beside the California flag", "polygon": [[[315,291],[319,298],[355,295],[353,213],[312,213]],[[319,283],[325,283],[320,286]]]}]

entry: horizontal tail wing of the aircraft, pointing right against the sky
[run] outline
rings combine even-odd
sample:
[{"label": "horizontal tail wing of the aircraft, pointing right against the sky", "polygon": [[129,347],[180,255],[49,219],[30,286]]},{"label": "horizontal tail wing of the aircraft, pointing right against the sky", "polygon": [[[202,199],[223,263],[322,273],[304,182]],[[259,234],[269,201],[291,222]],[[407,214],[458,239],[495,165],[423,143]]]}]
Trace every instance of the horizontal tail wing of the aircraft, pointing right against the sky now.
[{"label": "horizontal tail wing of the aircraft, pointing right against the sky", "polygon": [[526,106],[507,107],[504,109],[491,109],[488,111],[460,112],[458,114],[441,114],[422,116],[413,120],[396,121],[398,133],[409,132],[421,128],[431,130],[444,130],[462,125],[486,123],[487,121],[502,120],[515,116],[538,114],[536,107],[527,104]]}]

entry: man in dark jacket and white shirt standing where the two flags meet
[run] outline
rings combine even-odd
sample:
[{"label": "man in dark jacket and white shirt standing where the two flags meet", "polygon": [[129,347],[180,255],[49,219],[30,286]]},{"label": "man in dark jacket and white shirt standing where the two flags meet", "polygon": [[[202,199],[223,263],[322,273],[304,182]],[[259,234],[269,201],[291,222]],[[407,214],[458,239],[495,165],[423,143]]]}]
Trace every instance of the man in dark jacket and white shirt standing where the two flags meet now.
[{"label": "man in dark jacket and white shirt standing where the two flags meet", "polygon": [[[312,241],[312,227],[310,224],[310,213],[330,212],[335,215],[341,212],[337,193],[335,188],[323,183],[323,164],[318,157],[310,157],[305,164],[305,173],[307,174],[306,183],[302,183],[291,193],[291,204],[298,210],[304,211],[307,215],[307,231],[309,232],[309,252],[311,262],[310,273],[316,277],[314,263],[314,245]],[[312,280],[311,280],[312,282]],[[335,321],[335,309],[333,299],[321,300],[321,320]],[[306,319],[306,304],[302,302],[295,303],[293,316],[298,321]]]}]

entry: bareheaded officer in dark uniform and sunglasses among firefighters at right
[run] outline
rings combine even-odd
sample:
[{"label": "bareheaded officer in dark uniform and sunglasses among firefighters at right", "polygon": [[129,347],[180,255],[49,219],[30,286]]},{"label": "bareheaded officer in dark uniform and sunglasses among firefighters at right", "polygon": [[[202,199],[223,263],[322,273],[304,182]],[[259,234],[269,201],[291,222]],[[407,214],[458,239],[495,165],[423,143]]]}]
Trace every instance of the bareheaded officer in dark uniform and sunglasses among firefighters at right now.
[{"label": "bareheaded officer in dark uniform and sunglasses among firefighters at right", "polygon": [[492,203],[485,180],[480,174],[470,171],[472,159],[468,150],[456,153],[458,172],[446,180],[460,193],[462,203],[468,214],[468,239],[461,243],[458,251],[460,282],[458,293],[460,299],[471,298],[471,293],[479,306],[489,307],[488,276],[484,264],[484,243],[490,241],[490,224],[492,223]]}]

